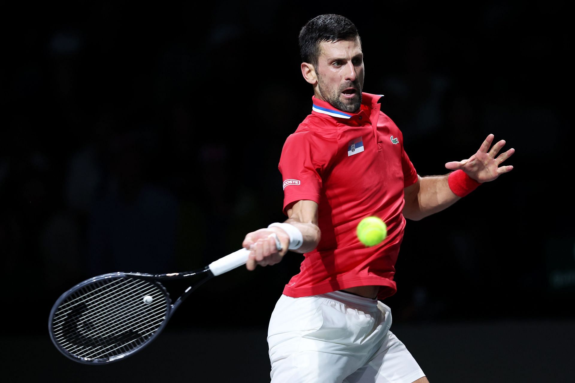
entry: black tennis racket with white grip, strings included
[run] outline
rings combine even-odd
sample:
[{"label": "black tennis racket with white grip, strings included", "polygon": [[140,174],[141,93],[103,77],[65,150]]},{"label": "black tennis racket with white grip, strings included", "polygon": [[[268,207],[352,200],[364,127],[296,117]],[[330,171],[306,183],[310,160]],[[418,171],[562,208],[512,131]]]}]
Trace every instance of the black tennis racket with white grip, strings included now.
[{"label": "black tennis racket with white grip, strings included", "polygon": [[[278,250],[281,244],[277,235]],[[50,312],[48,331],[58,350],[90,365],[122,360],[149,345],[166,327],[178,306],[210,278],[247,262],[240,249],[204,269],[170,274],[109,273],[72,287]],[[172,304],[160,281],[202,276]]]}]

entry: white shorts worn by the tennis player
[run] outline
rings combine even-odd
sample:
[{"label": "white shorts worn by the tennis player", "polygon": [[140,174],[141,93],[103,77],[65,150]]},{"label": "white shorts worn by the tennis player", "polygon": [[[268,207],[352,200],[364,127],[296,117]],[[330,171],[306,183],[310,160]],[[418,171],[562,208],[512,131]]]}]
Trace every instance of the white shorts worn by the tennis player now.
[{"label": "white shorts worn by the tennis player", "polygon": [[282,295],[267,332],[273,383],[412,383],[425,376],[385,304],[345,292]]}]

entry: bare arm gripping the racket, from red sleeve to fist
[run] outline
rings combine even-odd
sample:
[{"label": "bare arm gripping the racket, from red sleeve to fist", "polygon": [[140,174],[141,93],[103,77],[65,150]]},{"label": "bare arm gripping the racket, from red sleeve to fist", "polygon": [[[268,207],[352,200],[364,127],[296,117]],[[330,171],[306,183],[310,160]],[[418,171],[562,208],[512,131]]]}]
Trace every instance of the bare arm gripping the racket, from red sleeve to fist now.
[{"label": "bare arm gripping the racket, from red sleeve to fist", "polygon": [[[292,225],[299,230],[303,239],[302,245],[291,251],[296,253],[310,252],[320,242],[321,233],[317,226],[317,210],[317,203],[311,200],[300,200],[287,208],[287,216],[289,218],[284,223]],[[275,239],[273,236],[270,237],[274,233],[282,245],[282,250],[279,252],[275,246]],[[286,230],[278,226],[271,226],[248,233],[242,243],[243,247],[251,250],[246,268],[254,270],[256,265],[277,264],[289,250],[289,243],[290,235]]]}]

